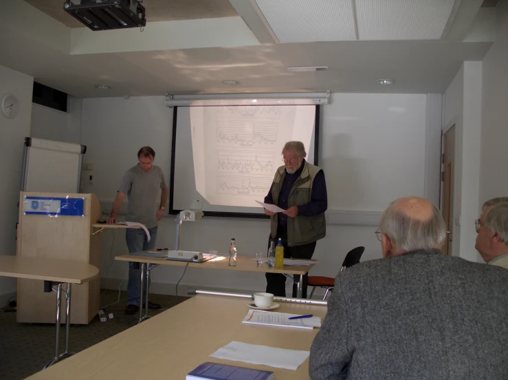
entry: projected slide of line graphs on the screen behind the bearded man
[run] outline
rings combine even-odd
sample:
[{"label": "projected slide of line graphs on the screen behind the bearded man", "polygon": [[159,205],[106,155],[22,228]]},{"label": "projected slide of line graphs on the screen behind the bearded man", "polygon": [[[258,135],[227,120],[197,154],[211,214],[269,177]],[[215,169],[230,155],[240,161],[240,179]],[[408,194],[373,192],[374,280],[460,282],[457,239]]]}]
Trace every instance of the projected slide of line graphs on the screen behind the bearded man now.
[{"label": "projected slide of line graphs on the screen behind the bearded man", "polygon": [[287,141],[311,145],[314,106],[190,107],[192,161],[199,194],[212,205],[259,207]]}]

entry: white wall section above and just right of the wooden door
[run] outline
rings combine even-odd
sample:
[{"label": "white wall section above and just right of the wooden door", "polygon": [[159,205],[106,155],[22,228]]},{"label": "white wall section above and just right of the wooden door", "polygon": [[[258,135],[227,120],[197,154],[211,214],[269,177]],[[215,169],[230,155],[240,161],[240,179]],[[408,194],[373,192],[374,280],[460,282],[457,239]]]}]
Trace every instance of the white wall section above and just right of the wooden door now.
[{"label": "white wall section above and just right of the wooden door", "polygon": [[443,133],[455,126],[452,254],[478,262],[473,222],[479,211],[481,73],[482,62],[464,62],[445,92],[443,116]]}]

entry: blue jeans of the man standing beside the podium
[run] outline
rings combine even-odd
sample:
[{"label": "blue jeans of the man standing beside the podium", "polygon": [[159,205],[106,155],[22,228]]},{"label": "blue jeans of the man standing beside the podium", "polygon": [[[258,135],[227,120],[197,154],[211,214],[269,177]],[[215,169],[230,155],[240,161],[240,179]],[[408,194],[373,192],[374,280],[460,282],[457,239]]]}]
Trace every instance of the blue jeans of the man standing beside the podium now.
[{"label": "blue jeans of the man standing beside the podium", "polygon": [[[125,240],[129,253],[141,252],[142,250],[153,250],[157,240],[157,227],[148,228],[150,242],[146,238],[144,230],[138,228],[127,228]],[[140,306],[141,269],[140,263],[129,263],[129,283],[127,283],[127,305]],[[146,278],[145,278],[146,281]],[[148,287],[150,282],[148,282]],[[146,282],[143,284],[143,298],[146,295]]]}]

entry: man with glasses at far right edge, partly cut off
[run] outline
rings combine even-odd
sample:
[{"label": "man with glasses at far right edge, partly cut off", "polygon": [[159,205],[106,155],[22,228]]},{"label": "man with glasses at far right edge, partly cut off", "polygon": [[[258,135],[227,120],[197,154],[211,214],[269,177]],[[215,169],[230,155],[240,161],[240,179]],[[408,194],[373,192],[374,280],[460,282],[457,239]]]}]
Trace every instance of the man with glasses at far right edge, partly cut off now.
[{"label": "man with glasses at far right edge, partly cut off", "polygon": [[485,263],[508,269],[508,197],[493,198],[483,204],[476,226],[476,245]]}]

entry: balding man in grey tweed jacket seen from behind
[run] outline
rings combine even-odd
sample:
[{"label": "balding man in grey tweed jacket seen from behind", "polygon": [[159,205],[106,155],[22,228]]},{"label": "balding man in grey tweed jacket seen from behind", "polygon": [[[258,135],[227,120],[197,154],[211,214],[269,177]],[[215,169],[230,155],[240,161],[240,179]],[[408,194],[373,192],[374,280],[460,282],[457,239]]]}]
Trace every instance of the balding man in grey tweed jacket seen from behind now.
[{"label": "balding man in grey tweed jacket seen from behind", "polygon": [[508,270],[443,255],[421,198],[393,202],[379,234],[384,259],[335,279],[311,379],[508,379]]}]

